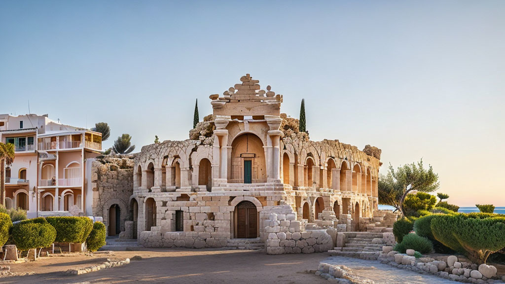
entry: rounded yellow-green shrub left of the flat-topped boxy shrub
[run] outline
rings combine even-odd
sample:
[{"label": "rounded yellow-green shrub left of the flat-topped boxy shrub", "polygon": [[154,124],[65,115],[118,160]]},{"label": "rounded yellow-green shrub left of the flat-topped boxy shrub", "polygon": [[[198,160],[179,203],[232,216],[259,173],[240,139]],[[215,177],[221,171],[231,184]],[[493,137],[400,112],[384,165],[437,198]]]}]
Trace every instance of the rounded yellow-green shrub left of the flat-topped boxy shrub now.
[{"label": "rounded yellow-green shrub left of the flat-topped boxy shrub", "polygon": [[40,220],[36,222],[21,221],[14,224],[12,239],[21,251],[44,248],[55,242],[56,229],[47,222],[40,222]]}]

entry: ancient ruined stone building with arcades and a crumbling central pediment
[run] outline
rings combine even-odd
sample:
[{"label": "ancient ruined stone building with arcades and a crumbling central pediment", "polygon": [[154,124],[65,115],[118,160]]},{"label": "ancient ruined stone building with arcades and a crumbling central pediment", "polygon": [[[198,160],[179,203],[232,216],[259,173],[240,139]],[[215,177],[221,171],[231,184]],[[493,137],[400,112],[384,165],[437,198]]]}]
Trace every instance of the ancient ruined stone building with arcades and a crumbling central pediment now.
[{"label": "ancient ruined stone building with arcades and a crumbling central pediment", "polygon": [[281,114],[280,94],[249,74],[240,81],[210,96],[213,114],[190,139],[135,157],[129,203],[139,242],[246,247],[256,239],[268,253],[310,253],[333,247],[332,230],[360,230],[377,210],[380,150],[311,141]]}]

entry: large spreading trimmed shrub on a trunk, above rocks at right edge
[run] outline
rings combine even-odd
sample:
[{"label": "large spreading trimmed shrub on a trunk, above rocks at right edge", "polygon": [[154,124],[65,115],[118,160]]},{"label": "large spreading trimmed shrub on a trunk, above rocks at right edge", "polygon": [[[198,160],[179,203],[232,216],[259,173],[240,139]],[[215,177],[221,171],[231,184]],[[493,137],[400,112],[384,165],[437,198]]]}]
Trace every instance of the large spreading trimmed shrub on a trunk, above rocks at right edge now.
[{"label": "large spreading trimmed shrub on a trunk, above rocks at right edge", "polygon": [[498,214],[436,215],[431,220],[431,231],[444,246],[478,264],[486,263],[489,255],[505,248],[505,216]]}]

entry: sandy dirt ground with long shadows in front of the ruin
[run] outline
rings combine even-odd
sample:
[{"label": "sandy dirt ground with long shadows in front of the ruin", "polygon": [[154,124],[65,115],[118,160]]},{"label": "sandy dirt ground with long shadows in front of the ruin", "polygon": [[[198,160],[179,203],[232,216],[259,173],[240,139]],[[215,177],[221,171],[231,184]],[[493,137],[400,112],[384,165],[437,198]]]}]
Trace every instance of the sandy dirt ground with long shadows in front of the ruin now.
[{"label": "sandy dirt ground with long shadows in front of the ruin", "polygon": [[[109,259],[134,256],[121,267],[83,275],[67,276],[70,268],[87,267]],[[306,270],[317,269],[327,253],[266,255],[240,250],[150,249],[116,251],[94,257],[78,255],[41,258],[37,262],[12,264],[13,272],[37,272],[35,275],[0,278],[1,283],[328,283]]]}]

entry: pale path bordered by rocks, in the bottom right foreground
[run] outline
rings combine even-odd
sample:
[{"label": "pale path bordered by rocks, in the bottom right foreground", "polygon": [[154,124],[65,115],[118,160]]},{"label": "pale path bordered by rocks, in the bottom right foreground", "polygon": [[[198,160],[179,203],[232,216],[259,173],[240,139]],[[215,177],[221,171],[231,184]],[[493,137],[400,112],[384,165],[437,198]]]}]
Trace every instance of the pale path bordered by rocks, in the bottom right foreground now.
[{"label": "pale path bordered by rocks, in the bottom right foreground", "polygon": [[396,268],[375,260],[363,260],[349,257],[333,256],[322,262],[332,265],[345,265],[362,279],[373,280],[376,284],[446,284],[454,281],[434,275],[420,274],[414,271]]}]

